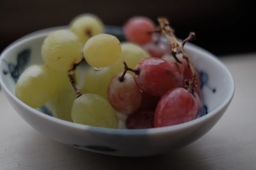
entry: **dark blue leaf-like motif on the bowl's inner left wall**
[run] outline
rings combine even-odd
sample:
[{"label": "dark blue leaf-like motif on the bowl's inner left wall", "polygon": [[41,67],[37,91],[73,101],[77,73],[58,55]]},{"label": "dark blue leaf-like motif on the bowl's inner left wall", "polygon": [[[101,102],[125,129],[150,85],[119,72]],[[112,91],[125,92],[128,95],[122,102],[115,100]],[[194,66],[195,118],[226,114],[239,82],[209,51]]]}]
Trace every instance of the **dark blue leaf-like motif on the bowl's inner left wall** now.
[{"label": "dark blue leaf-like motif on the bowl's inner left wall", "polygon": [[6,75],[10,73],[13,80],[17,82],[20,74],[24,71],[26,64],[29,62],[30,55],[31,50],[28,48],[19,52],[17,54],[17,64],[6,62],[8,64],[8,71],[3,70],[3,74]]}]

